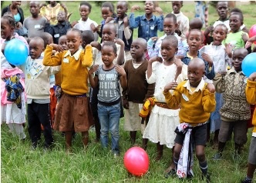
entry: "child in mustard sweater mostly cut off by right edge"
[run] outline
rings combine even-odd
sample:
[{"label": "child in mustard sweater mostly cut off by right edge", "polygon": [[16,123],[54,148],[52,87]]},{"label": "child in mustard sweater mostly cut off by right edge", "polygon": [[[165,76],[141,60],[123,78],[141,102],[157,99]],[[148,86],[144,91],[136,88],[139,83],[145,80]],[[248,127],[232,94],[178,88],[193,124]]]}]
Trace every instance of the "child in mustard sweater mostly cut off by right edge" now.
[{"label": "child in mustard sweater mostly cut off by right edge", "polygon": [[[248,80],[247,85],[245,88],[245,95],[247,101],[250,104],[256,103],[256,72],[252,73]],[[247,169],[247,176],[244,178],[242,183],[251,183],[254,178],[254,171],[256,169],[256,111],[254,110],[254,116],[252,124],[254,125],[251,137],[251,145],[248,157],[248,169]]]}]

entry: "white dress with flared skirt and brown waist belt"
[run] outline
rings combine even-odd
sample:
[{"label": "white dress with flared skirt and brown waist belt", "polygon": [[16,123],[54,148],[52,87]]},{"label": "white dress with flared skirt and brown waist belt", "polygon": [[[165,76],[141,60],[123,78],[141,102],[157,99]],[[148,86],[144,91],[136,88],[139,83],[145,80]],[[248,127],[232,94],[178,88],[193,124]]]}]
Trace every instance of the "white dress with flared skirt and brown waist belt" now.
[{"label": "white dress with flared skirt and brown waist belt", "polygon": [[[177,66],[174,64],[166,66],[155,62],[153,65],[152,75],[147,78],[147,82],[149,84],[156,82],[154,97],[157,101],[166,102],[163,95],[164,86],[174,82],[176,70]],[[177,83],[183,82],[185,79],[187,79],[187,65],[183,65]],[[167,145],[167,148],[173,148],[176,137],[174,130],[180,124],[179,111],[179,109],[160,108],[154,105],[143,138],[148,138],[153,143],[160,142],[160,145]]]}]

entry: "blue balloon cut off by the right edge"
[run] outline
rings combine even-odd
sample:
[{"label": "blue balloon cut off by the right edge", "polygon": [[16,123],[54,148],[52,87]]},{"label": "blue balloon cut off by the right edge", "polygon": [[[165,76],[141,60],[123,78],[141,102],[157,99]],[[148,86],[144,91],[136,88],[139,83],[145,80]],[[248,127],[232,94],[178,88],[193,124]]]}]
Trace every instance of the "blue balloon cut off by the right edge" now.
[{"label": "blue balloon cut off by the right edge", "polygon": [[242,71],[247,77],[253,72],[256,72],[256,53],[251,53],[244,58],[242,62]]}]

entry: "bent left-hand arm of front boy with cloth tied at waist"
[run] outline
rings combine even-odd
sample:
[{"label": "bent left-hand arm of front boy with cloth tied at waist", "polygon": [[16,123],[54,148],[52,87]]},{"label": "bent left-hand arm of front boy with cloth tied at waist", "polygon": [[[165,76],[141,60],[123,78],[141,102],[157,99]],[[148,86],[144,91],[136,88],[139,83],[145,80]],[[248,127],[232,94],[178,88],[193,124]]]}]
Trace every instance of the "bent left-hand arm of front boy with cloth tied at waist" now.
[{"label": "bent left-hand arm of front boy with cloth tied at waist", "polygon": [[[180,105],[180,87],[177,87],[177,82],[170,82],[164,87],[163,95],[165,97],[165,101],[169,108],[178,108]],[[173,90],[173,95],[169,92],[169,90]]]}]

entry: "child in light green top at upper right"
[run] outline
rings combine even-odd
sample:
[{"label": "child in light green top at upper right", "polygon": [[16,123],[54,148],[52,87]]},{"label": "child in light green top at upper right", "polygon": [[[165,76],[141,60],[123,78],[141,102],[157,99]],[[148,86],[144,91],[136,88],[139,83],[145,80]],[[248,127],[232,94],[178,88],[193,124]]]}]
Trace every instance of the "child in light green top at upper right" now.
[{"label": "child in light green top at upper right", "polygon": [[234,12],[229,17],[229,26],[231,32],[227,34],[223,44],[226,45],[226,52],[229,58],[232,57],[234,48],[244,48],[245,43],[248,41],[248,33],[240,30],[241,25],[244,23],[244,16],[239,12]]}]

